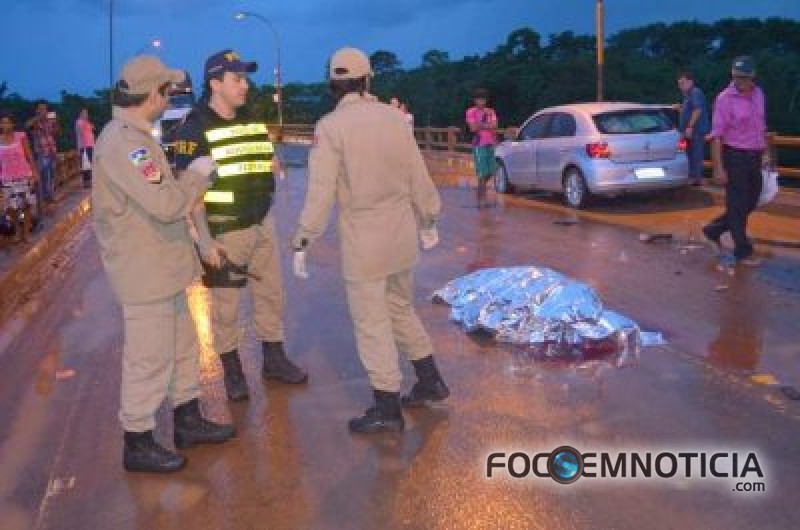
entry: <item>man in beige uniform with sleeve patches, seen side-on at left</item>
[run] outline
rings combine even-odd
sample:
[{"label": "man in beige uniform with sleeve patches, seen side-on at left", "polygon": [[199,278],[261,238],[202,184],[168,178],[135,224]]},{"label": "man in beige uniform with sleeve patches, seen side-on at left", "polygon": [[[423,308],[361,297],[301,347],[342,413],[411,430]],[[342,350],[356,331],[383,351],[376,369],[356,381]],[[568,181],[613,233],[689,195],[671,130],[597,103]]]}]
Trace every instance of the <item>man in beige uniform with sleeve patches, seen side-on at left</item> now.
[{"label": "man in beige uniform with sleeve patches, seen side-on at left", "polygon": [[170,85],[182,79],[155,57],[128,62],[114,88],[113,119],[95,149],[95,232],[125,322],[120,421],[129,471],[185,465],[184,456],[153,438],[155,412],[167,396],[178,448],[234,435],[233,427],[200,412],[200,348],[186,299],[200,270],[186,215],[208,187],[213,166],[200,160],[176,180],[150,134]]}]

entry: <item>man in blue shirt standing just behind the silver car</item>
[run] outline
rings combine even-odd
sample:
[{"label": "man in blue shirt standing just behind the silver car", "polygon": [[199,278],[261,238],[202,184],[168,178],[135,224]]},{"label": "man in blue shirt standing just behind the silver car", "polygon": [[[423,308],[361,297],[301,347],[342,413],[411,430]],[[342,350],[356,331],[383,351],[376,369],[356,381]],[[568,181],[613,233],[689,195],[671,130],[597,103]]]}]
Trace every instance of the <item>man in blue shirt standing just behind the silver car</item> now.
[{"label": "man in blue shirt standing just behind the silver car", "polygon": [[682,72],[678,76],[678,87],[683,93],[683,105],[678,129],[689,141],[686,156],[689,159],[689,179],[693,186],[703,183],[704,138],[709,132],[708,104],[706,96],[694,84],[694,76]]}]

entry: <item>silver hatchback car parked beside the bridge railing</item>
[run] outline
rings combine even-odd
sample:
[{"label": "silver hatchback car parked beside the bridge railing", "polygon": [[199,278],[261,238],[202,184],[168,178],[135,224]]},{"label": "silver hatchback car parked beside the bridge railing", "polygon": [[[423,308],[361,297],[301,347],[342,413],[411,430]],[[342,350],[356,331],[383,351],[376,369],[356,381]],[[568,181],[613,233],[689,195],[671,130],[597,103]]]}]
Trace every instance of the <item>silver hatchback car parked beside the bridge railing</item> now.
[{"label": "silver hatchback car parked beside the bridge railing", "polygon": [[495,190],[590,196],[687,186],[686,140],[665,110],[636,103],[577,103],[541,110],[495,153]]}]

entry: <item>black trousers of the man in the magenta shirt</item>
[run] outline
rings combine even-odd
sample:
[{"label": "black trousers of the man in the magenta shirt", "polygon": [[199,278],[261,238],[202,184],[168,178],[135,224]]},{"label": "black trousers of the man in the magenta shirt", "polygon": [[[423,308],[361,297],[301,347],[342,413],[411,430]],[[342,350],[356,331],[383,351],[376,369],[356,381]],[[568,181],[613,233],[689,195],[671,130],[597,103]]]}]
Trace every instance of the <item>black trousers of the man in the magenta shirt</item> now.
[{"label": "black trousers of the man in the magenta shirt", "polygon": [[722,149],[722,165],[728,174],[725,186],[725,213],[711,221],[703,229],[711,239],[730,231],[733,238],[733,256],[744,259],[753,253],[753,245],[747,238],[747,218],[758,206],[763,177],[761,175],[761,151]]}]

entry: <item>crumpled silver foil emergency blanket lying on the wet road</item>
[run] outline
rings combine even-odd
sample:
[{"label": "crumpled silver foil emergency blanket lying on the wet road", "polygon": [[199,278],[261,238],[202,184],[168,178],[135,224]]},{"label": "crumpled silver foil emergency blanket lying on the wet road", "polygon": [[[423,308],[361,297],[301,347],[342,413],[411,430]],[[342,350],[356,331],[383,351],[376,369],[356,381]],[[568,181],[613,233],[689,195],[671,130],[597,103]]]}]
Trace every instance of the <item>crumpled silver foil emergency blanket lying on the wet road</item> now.
[{"label": "crumpled silver foil emergency blanket lying on the wet road", "polygon": [[[643,346],[663,343],[636,322],[603,307],[588,285],[541,267],[482,269],[456,278],[433,294],[451,306],[452,320],[468,332],[525,345],[531,360],[633,364]],[[518,352],[519,354],[519,352]]]}]

